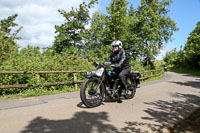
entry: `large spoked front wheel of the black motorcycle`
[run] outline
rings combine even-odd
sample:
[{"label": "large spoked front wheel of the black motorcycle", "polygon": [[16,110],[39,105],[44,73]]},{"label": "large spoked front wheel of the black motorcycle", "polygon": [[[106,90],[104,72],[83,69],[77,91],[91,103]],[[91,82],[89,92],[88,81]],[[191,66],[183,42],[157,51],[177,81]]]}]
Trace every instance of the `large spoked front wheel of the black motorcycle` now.
[{"label": "large spoked front wheel of the black motorcycle", "polygon": [[89,108],[101,105],[104,96],[104,86],[102,82],[96,78],[86,79],[80,90],[81,101]]}]

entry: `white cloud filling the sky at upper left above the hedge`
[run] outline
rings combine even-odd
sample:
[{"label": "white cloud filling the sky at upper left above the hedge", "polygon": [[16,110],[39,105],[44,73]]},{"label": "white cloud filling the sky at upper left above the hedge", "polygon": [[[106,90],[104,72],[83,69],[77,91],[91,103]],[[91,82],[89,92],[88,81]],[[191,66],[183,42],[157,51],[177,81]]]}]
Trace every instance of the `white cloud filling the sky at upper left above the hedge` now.
[{"label": "white cloud filling the sky at upper left above the hedge", "polygon": [[21,47],[28,44],[41,48],[52,45],[55,25],[64,23],[58,9],[70,11],[78,7],[83,0],[1,0],[0,19],[18,14],[16,23],[23,26],[18,41]]}]

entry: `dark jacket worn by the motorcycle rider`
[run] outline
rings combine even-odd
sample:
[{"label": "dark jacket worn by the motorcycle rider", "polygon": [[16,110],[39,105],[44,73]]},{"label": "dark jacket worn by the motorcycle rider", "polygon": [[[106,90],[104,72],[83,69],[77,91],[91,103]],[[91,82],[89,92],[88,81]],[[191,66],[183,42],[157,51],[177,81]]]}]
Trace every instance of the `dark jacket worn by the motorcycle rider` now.
[{"label": "dark jacket worn by the motorcycle rider", "polygon": [[112,64],[114,64],[117,71],[124,70],[130,67],[128,58],[123,49],[112,52],[110,57],[106,61],[110,61]]}]

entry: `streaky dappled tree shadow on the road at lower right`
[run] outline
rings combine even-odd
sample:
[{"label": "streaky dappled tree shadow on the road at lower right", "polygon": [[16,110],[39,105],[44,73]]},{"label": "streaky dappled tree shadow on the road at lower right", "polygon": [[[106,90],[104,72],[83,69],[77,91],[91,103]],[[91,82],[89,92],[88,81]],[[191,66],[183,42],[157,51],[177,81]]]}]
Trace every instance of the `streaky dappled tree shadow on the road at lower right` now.
[{"label": "streaky dappled tree shadow on the road at lower right", "polygon": [[[163,129],[168,129],[174,132],[173,125],[183,118],[187,117],[193,110],[200,108],[200,97],[192,94],[172,94],[180,100],[171,101],[155,101],[150,103],[145,103],[151,105],[151,108],[144,110],[149,117],[142,117],[143,120],[147,120],[146,123],[139,123],[137,121],[129,121],[125,124],[127,125],[122,129],[122,131],[127,133],[132,132],[164,132]],[[149,122],[148,122],[149,121]],[[160,124],[156,124],[160,123]],[[146,127],[146,129],[141,128]]]}]

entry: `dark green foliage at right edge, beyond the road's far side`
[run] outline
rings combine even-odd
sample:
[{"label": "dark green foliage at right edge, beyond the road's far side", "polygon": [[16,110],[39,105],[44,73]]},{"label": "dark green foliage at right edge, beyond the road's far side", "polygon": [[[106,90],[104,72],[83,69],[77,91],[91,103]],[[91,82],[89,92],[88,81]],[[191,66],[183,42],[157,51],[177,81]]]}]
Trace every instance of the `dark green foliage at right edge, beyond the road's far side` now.
[{"label": "dark green foliage at right edge, beyond the road's far side", "polygon": [[190,33],[184,48],[168,52],[164,60],[176,68],[199,69],[200,67],[200,22]]}]

